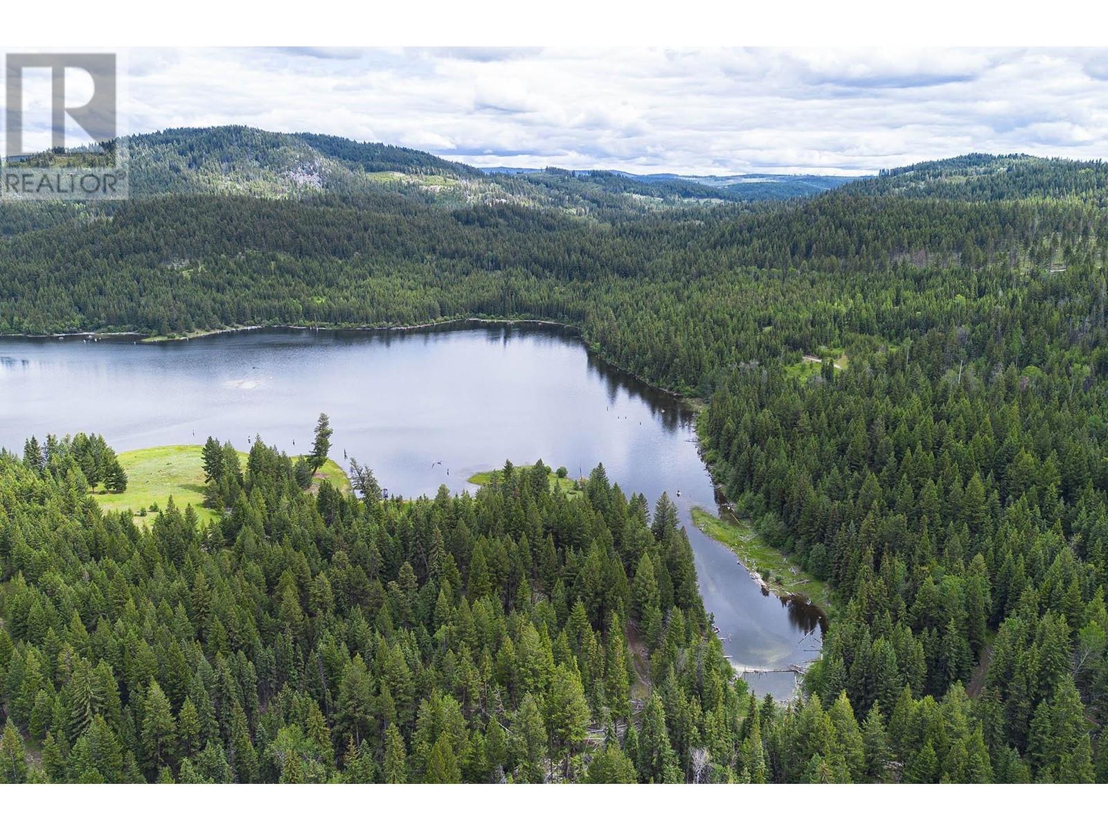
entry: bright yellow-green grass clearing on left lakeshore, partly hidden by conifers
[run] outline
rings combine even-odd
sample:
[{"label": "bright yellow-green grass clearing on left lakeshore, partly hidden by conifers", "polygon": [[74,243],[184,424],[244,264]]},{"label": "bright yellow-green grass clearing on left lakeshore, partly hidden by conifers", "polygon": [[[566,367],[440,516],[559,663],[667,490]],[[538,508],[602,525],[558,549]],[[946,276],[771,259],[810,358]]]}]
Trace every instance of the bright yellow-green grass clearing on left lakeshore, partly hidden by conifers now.
[{"label": "bright yellow-green grass clearing on left lakeshore, partly hidden by conifers", "polygon": [[[131,511],[135,522],[146,524],[156,514],[138,516],[138,511],[150,512],[152,504],[165,509],[173,496],[174,504],[185,510],[192,505],[201,523],[215,517],[215,511],[204,507],[204,463],[199,444],[168,444],[161,448],[127,450],[119,454],[120,464],[127,474],[127,490],[123,493],[95,492],[93,495],[104,511]],[[247,454],[239,451],[238,458],[246,468]],[[349,492],[350,482],[342,469],[328,459],[316,473],[317,480],[329,480],[343,493]],[[312,485],[316,490],[317,485]]]}]

